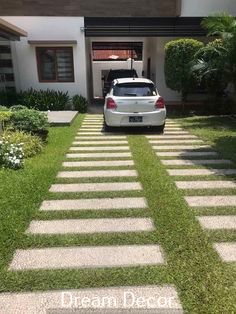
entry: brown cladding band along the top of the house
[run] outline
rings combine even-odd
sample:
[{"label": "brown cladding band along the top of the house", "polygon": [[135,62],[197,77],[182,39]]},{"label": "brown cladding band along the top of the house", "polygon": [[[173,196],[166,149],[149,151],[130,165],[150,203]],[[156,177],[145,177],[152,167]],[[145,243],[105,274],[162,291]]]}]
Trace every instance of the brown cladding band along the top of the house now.
[{"label": "brown cladding band along the top of the house", "polygon": [[2,16],[174,17],[181,0],[8,0]]}]

